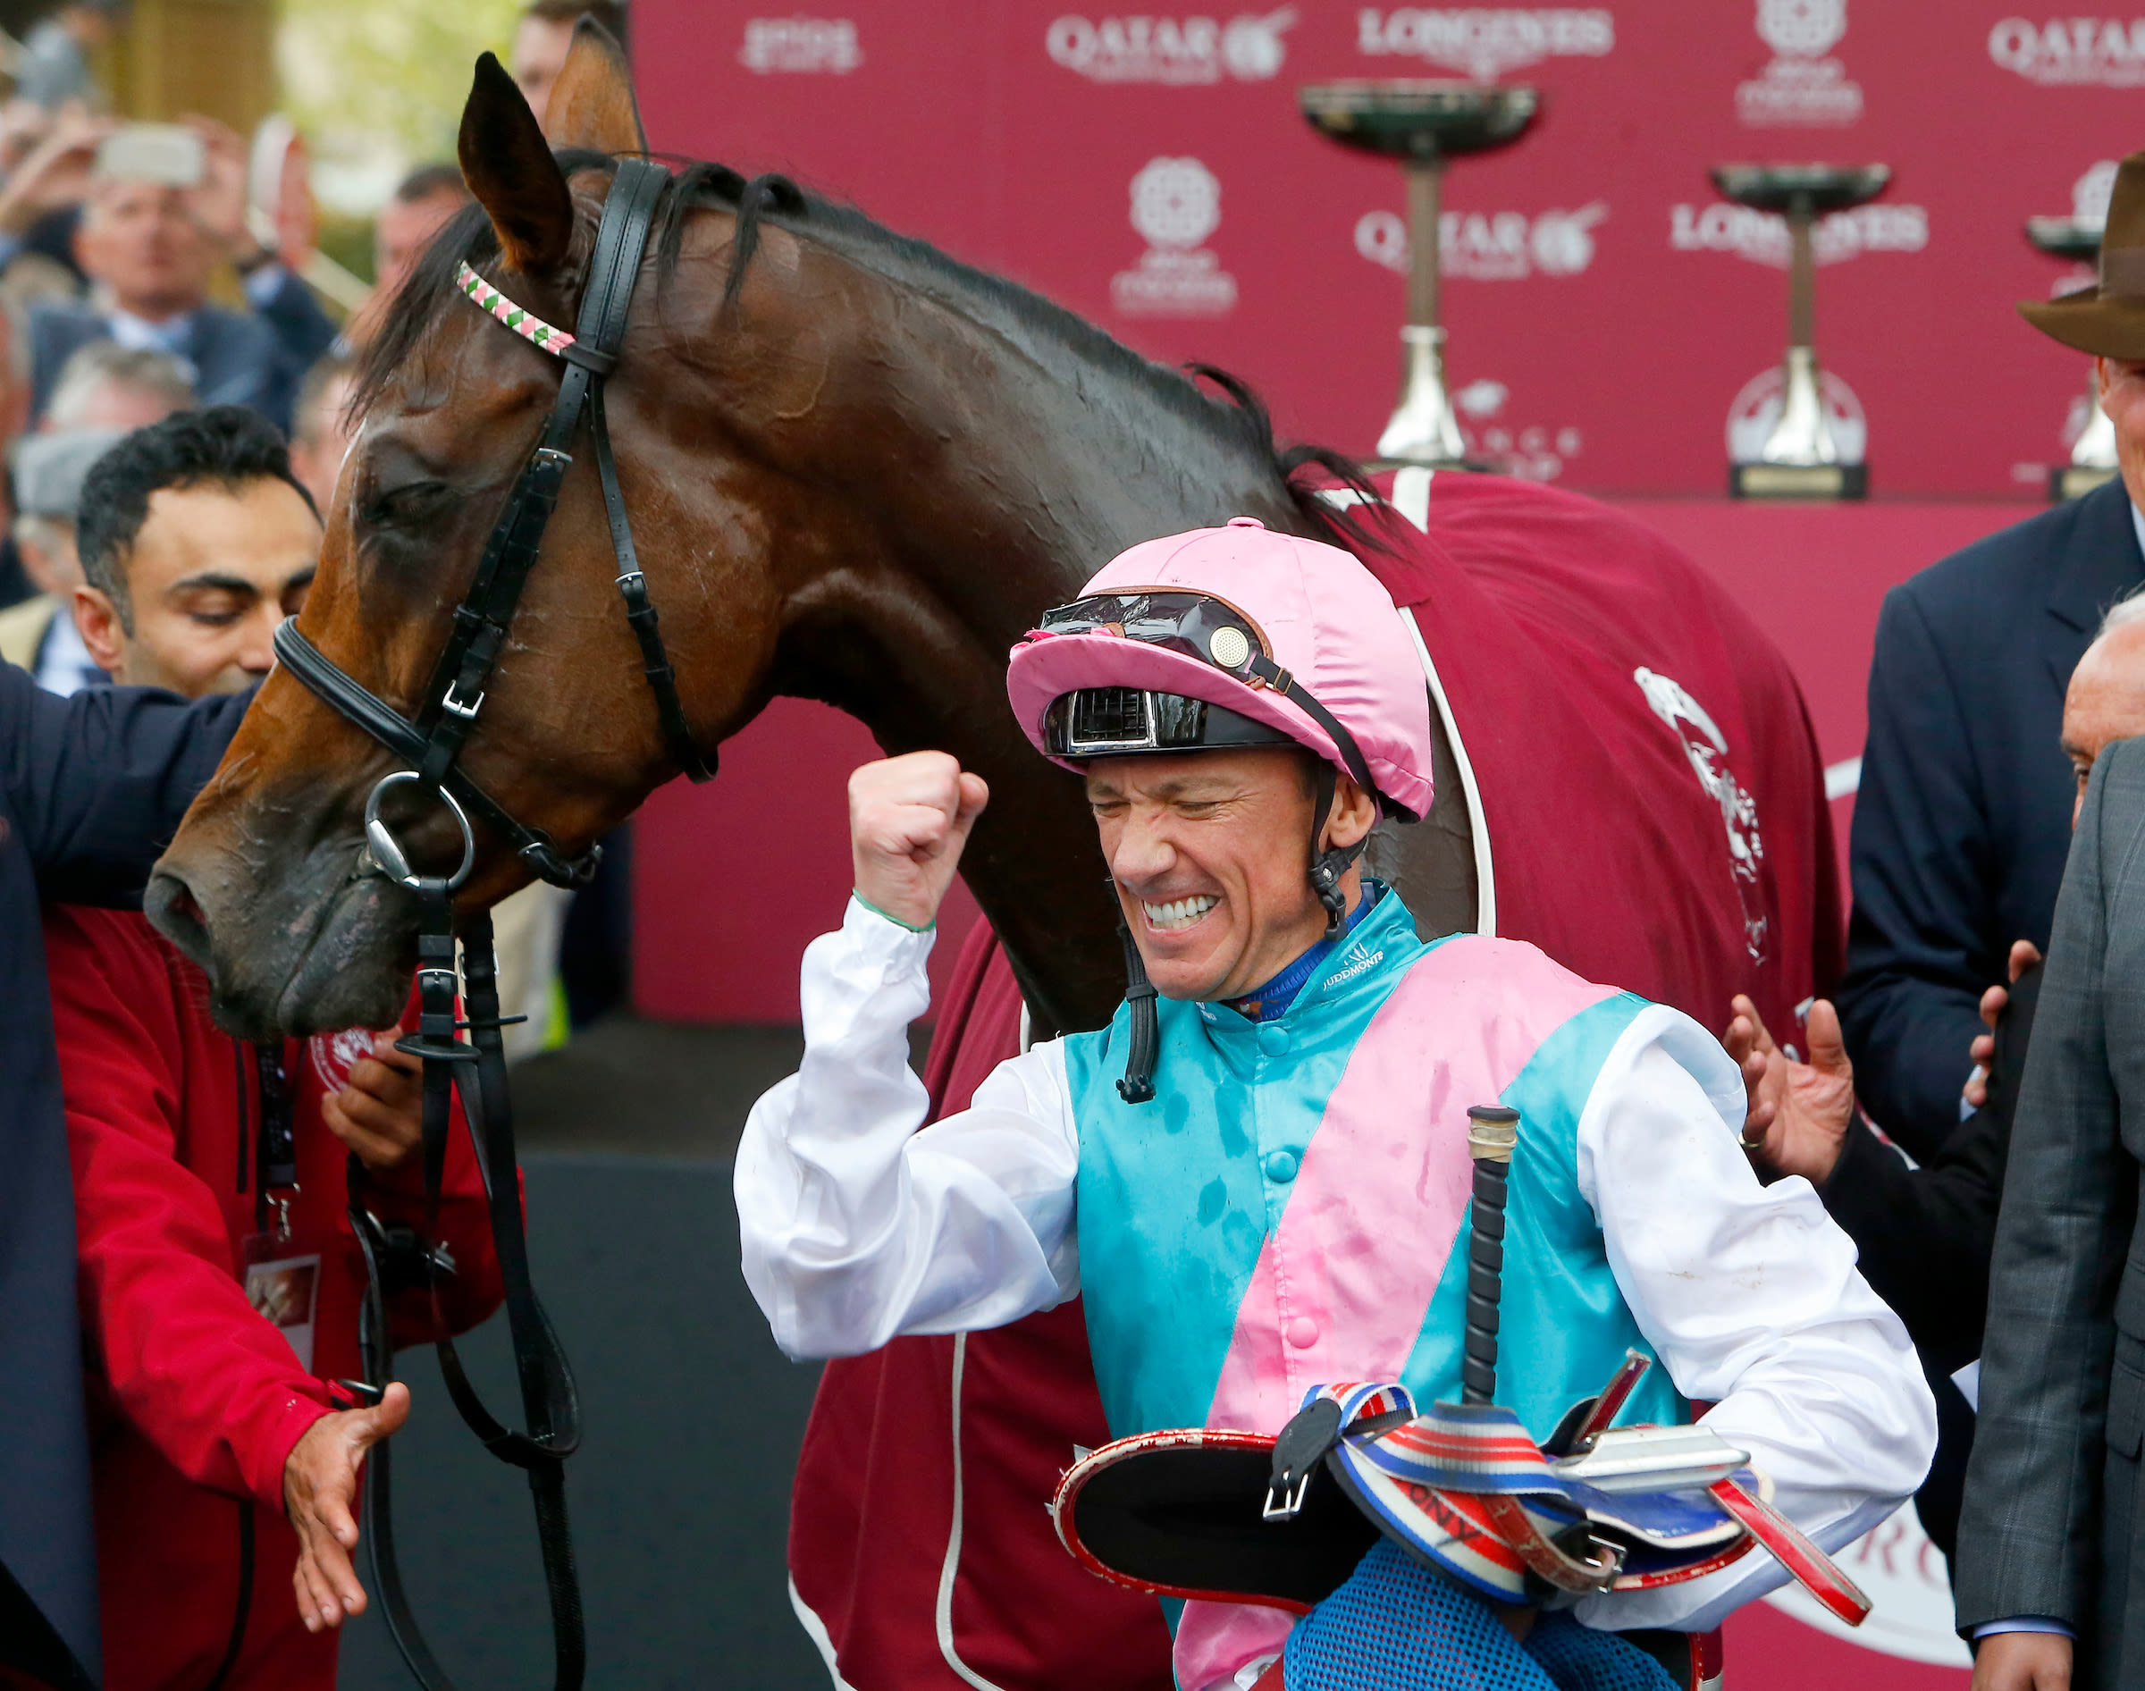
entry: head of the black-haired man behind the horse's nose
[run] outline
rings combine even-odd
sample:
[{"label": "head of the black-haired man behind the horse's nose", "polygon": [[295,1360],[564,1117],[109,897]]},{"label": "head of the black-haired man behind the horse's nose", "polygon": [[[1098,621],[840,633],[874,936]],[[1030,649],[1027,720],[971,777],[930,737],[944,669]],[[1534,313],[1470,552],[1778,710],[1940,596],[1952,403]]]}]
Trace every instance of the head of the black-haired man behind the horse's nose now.
[{"label": "head of the black-haired man behind the horse's nose", "polygon": [[275,667],[320,558],[320,513],[283,438],[245,406],[178,412],[82,485],[82,639],[114,678],[238,693]]}]

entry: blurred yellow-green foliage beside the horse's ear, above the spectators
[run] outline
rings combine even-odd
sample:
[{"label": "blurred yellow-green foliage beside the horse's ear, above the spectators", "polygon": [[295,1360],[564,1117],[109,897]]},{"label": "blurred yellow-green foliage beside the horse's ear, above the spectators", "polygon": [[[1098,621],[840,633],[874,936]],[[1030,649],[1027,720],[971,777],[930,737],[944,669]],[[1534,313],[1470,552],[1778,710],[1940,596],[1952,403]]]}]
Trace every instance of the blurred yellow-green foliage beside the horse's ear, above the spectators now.
[{"label": "blurred yellow-green foliage beside the horse's ear, above the spectators", "polygon": [[283,109],[315,159],[382,178],[455,157],[470,67],[513,43],[526,0],[281,0]]}]

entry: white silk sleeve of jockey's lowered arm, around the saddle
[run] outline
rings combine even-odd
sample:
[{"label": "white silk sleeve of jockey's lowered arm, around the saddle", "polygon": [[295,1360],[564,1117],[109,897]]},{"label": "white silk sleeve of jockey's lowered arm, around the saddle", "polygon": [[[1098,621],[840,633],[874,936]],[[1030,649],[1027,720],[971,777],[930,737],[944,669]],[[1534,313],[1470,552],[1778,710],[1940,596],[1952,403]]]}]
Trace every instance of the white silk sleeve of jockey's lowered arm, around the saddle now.
[{"label": "white silk sleeve of jockey's lowered arm, around the saddle", "polygon": [[[1828,1552],[1928,1474],[1937,1406],[1898,1315],[1808,1180],[1765,1187],[1737,1144],[1742,1075],[1697,1021],[1647,1006],[1579,1118],[1579,1191],[1624,1303],[1705,1425],[1750,1453]],[[1589,1597],[1589,1627],[1710,1631],[1787,1584],[1763,1549],[1703,1579]]]}]

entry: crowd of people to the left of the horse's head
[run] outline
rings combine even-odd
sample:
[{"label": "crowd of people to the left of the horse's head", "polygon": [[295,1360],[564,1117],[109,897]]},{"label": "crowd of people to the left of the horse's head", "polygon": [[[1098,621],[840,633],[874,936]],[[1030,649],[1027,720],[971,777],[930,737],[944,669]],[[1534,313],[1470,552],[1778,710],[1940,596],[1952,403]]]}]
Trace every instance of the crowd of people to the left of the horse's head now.
[{"label": "crowd of people to the left of the horse's head", "polygon": [[[335,1384],[363,1376],[347,1212],[450,1270],[427,1294],[401,1264],[412,1343],[500,1300],[483,1189],[457,1135],[427,1210],[414,1002],[403,1028],[236,1041],[139,886],[305,603],[365,352],[470,195],[453,163],[408,172],[337,320],[305,281],[302,172],[255,204],[223,124],[105,114],[92,54],[122,13],[62,4],[0,107],[0,1354],[21,1406],[0,1416],[0,1685],[328,1687],[332,1622],[363,1603],[358,1461],[408,1403]],[[523,13],[534,103],[583,13],[624,28],[616,4]],[[564,899],[500,912],[519,1049],[558,1019]],[[73,1285],[32,1268],[58,1262]]]}]

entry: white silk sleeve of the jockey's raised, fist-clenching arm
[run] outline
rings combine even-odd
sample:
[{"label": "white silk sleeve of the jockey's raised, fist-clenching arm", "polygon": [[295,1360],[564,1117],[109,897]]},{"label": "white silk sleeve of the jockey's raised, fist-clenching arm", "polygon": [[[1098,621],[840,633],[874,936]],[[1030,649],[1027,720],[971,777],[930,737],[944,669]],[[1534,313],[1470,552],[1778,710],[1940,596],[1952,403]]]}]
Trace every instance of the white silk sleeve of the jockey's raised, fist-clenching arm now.
[{"label": "white silk sleeve of the jockey's raised, fist-clenching arm", "polygon": [[804,951],[804,1060],[744,1122],[744,1283],[789,1356],[1002,1326],[1079,1292],[1079,1135],[1057,1043],[1002,1062],[970,1109],[918,1131],[929,1101],[907,1026],[931,1002],[931,938],[849,899]]}]

